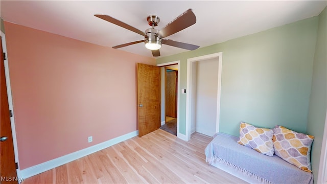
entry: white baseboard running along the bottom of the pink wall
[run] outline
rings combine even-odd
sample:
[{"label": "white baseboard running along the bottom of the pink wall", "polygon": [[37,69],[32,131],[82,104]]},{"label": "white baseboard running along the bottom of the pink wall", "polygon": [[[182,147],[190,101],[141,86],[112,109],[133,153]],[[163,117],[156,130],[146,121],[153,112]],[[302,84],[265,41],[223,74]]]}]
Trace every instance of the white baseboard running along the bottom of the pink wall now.
[{"label": "white baseboard running along the bottom of the pink wall", "polygon": [[94,146],[90,146],[88,148],[76,151],[74,153],[69,153],[67,155],[64,155],[64,156],[49,160],[48,162],[41,163],[41,164],[29,167],[29,168],[20,170],[19,175],[20,175],[21,178],[28,178],[28,177],[37,175],[37,174],[42,173],[44,171],[48,171],[50,169],[53,169],[53,168],[56,168],[58,166],[67,164],[69,162],[72,162],[73,160],[76,160],[76,159],[81,158],[83,156],[89,155],[91,153],[100,151],[100,150],[105,149],[105,148],[108,148],[108,147],[110,147],[110,146],[112,146],[114,144],[123,142],[123,141],[128,140],[128,139],[130,139],[130,138],[132,138],[134,136],[137,136],[137,135],[138,135],[138,130],[127,133],[125,135],[121,135],[119,137],[115,137],[112,140],[109,140],[109,141],[106,141],[106,142],[103,142],[103,143],[100,143],[100,144],[97,144],[97,145],[94,145]]}]

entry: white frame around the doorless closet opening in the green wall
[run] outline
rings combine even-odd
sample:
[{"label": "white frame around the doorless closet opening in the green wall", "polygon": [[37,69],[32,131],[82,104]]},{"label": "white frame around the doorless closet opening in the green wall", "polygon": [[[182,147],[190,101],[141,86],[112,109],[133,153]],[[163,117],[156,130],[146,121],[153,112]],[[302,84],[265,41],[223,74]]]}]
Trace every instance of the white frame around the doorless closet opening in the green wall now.
[{"label": "white frame around the doorless closet opening in the green wall", "polygon": [[219,132],[219,119],[220,119],[220,94],[221,94],[221,72],[222,72],[222,56],[223,53],[214,53],[204,56],[194,57],[188,59],[187,78],[186,78],[186,127],[185,138],[186,141],[191,139],[191,107],[192,107],[192,65],[193,62],[215,59],[218,62],[218,89],[217,89],[217,118],[216,118],[216,132]]}]

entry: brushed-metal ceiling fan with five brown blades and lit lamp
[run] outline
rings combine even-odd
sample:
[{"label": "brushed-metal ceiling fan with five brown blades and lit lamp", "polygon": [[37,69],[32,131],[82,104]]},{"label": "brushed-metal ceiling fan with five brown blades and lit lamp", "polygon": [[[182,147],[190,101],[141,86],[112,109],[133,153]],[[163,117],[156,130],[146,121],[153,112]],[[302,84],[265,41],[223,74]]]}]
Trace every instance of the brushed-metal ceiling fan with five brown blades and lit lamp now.
[{"label": "brushed-metal ceiling fan with five brown blades and lit lamp", "polygon": [[123,27],[125,29],[128,29],[130,31],[133,31],[137,34],[144,36],[144,40],[133,41],[133,42],[129,42],[129,43],[116,45],[116,46],[112,47],[113,49],[118,49],[118,48],[126,47],[128,45],[144,42],[145,47],[152,51],[153,56],[160,56],[159,49],[161,48],[161,44],[167,44],[167,45],[171,45],[173,47],[182,48],[182,49],[191,50],[191,51],[199,48],[198,45],[173,41],[170,39],[163,39],[167,36],[175,34],[179,31],[195,24],[196,17],[194,15],[192,9],[186,10],[184,13],[179,15],[177,18],[175,18],[173,21],[171,21],[168,25],[166,25],[166,27],[162,28],[161,30],[157,30],[154,28],[154,27],[158,26],[160,18],[156,15],[149,15],[147,17],[147,21],[149,23],[149,26],[152,26],[152,28],[147,29],[145,32],[138,30],[132,26],[129,26],[128,24],[126,24],[120,20],[117,20],[115,18],[112,18],[111,16],[108,16],[108,15],[96,14],[94,16],[99,17],[103,20],[111,22],[112,24],[115,24],[117,26]]}]

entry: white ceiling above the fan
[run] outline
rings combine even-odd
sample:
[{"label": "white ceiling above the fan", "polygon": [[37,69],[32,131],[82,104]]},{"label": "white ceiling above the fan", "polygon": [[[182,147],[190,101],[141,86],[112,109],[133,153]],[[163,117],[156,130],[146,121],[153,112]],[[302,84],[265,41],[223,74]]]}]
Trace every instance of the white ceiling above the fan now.
[{"label": "white ceiling above the fan", "polygon": [[[141,31],[150,28],[148,15],[160,17],[159,26],[189,8],[197,22],[167,39],[201,47],[317,16],[327,1],[0,1],[1,17],[38,30],[113,47],[142,40],[139,34],[97,18],[107,14]],[[144,43],[121,48],[153,57]],[[161,56],[187,50],[162,45]],[[158,58],[158,57],[157,57]]]}]

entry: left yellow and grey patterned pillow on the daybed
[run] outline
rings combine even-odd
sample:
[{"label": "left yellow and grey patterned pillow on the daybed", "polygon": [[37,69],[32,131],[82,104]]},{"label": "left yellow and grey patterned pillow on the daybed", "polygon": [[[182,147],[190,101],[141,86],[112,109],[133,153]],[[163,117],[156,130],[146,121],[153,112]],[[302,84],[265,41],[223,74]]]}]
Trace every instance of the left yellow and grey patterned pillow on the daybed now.
[{"label": "left yellow and grey patterned pillow on the daybed", "polygon": [[248,123],[241,122],[238,143],[252,148],[259,153],[273,156],[273,132],[269,128],[258,128]]}]

